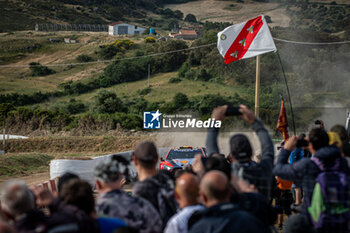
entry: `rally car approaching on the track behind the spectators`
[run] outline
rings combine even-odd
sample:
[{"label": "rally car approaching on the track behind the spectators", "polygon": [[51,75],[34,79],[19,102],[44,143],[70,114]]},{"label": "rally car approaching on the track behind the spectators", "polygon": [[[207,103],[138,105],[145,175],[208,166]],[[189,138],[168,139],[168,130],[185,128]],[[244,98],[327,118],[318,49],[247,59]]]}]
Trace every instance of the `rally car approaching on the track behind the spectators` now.
[{"label": "rally car approaching on the track behind the spectators", "polygon": [[186,164],[192,164],[196,154],[206,157],[205,148],[192,148],[190,146],[183,146],[178,149],[171,148],[165,159],[161,158],[160,170],[173,172],[176,169],[182,169]]}]

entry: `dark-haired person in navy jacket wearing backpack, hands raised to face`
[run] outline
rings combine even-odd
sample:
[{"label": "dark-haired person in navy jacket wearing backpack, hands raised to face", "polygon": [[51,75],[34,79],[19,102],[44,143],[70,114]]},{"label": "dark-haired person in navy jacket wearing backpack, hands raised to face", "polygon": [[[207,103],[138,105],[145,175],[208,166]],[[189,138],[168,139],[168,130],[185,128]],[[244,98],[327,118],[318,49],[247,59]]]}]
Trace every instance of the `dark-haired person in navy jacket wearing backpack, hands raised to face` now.
[{"label": "dark-haired person in navy jacket wearing backpack, hands raised to face", "polygon": [[[304,190],[304,201],[301,214],[291,216],[285,224],[285,232],[313,232],[310,218],[307,216],[307,207],[310,205],[316,178],[322,172],[322,169],[314,162],[319,161],[324,170],[336,169],[349,175],[349,167],[346,160],[341,156],[340,150],[335,146],[329,146],[327,132],[322,128],[314,128],[309,133],[309,151],[315,158],[303,158],[293,165],[288,163],[290,153],[300,146],[301,140],[298,137],[290,137],[284,148],[281,150],[277,164],[274,168],[274,174],[282,179],[300,182]],[[304,141],[305,143],[305,141]],[[335,168],[336,167],[336,168]],[[339,225],[339,232],[342,232]],[[334,232],[338,229],[334,229]]]}]

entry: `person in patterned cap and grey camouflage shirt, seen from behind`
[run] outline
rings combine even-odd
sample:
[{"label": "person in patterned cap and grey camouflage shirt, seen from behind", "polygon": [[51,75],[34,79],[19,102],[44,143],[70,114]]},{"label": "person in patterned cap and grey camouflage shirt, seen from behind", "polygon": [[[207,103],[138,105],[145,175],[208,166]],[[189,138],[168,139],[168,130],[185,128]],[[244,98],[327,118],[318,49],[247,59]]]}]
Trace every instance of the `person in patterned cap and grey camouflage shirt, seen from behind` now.
[{"label": "person in patterned cap and grey camouflage shirt, seen from behind", "polygon": [[156,209],[147,200],[128,195],[121,189],[125,166],[113,157],[95,167],[99,196],[96,212],[99,216],[122,219],[140,233],[162,232],[162,222]]}]

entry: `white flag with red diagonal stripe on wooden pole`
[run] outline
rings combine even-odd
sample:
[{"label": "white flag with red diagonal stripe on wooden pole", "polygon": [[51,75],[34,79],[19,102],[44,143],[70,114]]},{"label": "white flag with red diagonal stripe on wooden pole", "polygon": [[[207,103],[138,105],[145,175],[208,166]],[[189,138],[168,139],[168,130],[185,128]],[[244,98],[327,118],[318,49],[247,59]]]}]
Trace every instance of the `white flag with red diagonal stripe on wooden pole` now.
[{"label": "white flag with red diagonal stripe on wooden pole", "polygon": [[277,51],[263,15],[219,32],[217,47],[225,64]]}]

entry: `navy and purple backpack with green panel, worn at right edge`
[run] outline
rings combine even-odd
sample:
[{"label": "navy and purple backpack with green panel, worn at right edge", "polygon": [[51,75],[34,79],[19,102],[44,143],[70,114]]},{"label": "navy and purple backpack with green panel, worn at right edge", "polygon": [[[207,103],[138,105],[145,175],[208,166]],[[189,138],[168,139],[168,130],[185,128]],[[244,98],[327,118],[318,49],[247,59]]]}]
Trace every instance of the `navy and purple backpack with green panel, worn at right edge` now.
[{"label": "navy and purple backpack with green panel, worn at right edge", "polygon": [[316,229],[348,232],[350,220],[350,178],[339,171],[340,159],[326,169],[317,157],[311,160],[321,170],[308,207],[309,216]]}]

